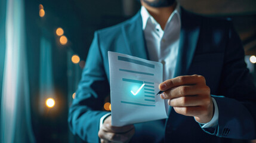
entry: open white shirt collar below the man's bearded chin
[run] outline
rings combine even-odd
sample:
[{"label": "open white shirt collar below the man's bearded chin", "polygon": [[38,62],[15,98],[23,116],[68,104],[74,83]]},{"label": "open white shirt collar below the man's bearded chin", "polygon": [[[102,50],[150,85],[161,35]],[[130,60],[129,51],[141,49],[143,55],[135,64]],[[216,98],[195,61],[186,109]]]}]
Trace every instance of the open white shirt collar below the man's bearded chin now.
[{"label": "open white shirt collar below the man's bearded chin", "polygon": [[[140,10],[140,14],[142,17],[142,29],[144,30],[147,26],[147,21],[150,19],[152,20],[152,23],[154,24],[158,24],[158,22],[155,20],[155,18],[152,17],[152,15],[149,14],[149,12],[147,11],[147,9],[144,6],[141,6],[141,10]],[[172,14],[170,15],[170,17],[168,18],[166,23],[169,23],[169,21],[171,21],[172,17],[177,14],[178,18],[180,18],[180,4],[176,5],[175,10],[172,12]],[[167,25],[167,24],[166,24]]]}]

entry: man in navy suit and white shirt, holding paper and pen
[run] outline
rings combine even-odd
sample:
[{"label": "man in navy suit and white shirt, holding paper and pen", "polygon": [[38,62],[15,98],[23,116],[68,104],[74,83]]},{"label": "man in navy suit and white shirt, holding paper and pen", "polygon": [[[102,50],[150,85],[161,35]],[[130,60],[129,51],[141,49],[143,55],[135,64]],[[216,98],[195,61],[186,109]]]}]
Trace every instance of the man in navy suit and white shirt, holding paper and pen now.
[{"label": "man in navy suit and white shirt, holding paper and pen", "polygon": [[[95,32],[69,110],[86,142],[231,142],[256,138],[256,90],[229,20],[189,13],[174,0],[141,0],[130,20]],[[107,51],[164,65],[166,120],[122,127],[101,111],[109,94]]]}]

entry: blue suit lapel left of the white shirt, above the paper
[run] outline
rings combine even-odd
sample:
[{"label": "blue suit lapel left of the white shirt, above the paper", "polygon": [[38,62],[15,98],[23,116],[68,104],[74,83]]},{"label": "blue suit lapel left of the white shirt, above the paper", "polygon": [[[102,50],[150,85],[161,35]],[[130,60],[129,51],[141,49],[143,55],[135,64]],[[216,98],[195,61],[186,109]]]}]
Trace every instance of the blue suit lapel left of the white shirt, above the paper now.
[{"label": "blue suit lapel left of the white shirt, above the paper", "polygon": [[122,33],[128,53],[132,56],[149,60],[144,43],[140,11],[129,21],[129,24],[122,27]]}]

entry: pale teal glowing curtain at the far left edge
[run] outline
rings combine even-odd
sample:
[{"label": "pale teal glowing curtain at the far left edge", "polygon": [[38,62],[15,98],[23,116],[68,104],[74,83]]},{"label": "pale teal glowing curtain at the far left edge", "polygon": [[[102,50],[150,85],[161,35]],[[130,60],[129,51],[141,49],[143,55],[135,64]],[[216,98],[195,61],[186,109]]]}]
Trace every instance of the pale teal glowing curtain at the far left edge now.
[{"label": "pale teal glowing curtain at the far left edge", "polygon": [[35,142],[30,116],[24,1],[7,0],[6,3],[0,142]]}]

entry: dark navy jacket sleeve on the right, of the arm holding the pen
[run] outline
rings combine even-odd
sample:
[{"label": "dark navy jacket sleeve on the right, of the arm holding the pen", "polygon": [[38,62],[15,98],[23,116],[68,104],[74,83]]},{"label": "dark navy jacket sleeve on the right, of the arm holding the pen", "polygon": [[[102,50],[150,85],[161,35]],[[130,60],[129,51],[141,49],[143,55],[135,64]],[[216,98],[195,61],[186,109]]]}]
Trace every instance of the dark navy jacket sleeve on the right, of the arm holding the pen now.
[{"label": "dark navy jacket sleeve on the right, of the arm holding the pen", "polygon": [[[232,25],[232,24],[230,24]],[[214,135],[225,138],[256,138],[256,91],[246,68],[244,51],[238,34],[230,26],[229,40],[218,95],[215,98],[218,126]],[[203,129],[207,132],[207,129]]]}]

